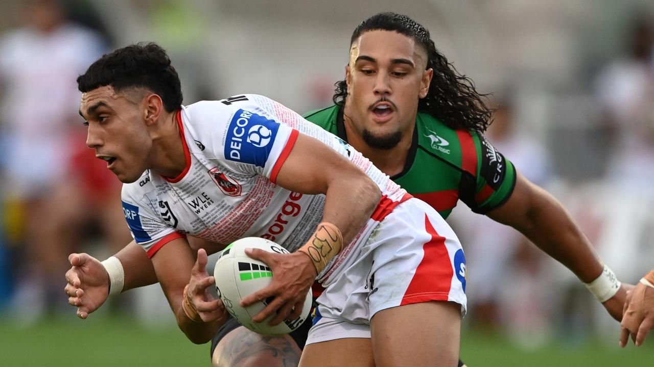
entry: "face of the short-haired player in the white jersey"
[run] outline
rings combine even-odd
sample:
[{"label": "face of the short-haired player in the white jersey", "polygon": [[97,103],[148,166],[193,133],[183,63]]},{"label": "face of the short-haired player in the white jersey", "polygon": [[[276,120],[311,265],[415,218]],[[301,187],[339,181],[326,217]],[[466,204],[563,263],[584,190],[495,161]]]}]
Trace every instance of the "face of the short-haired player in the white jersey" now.
[{"label": "face of the short-haired player in the white jersey", "polygon": [[88,124],[86,145],[125,183],[134,182],[146,170],[152,147],[143,99],[137,94],[102,86],[82,94],[80,103],[80,115]]}]

